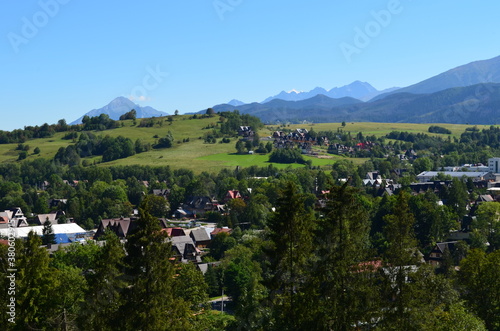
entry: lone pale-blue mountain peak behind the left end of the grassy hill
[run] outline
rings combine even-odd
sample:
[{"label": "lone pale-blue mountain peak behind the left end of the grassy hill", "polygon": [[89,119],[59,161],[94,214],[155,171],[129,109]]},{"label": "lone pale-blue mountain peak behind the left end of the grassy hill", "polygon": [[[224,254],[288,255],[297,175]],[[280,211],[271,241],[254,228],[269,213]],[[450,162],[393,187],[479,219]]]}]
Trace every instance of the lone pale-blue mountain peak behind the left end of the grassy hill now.
[{"label": "lone pale-blue mountain peak behind the left end of the grassy hill", "polygon": [[[94,116],[99,116],[101,114],[107,114],[109,117],[113,120],[118,120],[121,115],[125,114],[126,112],[131,111],[132,109],[135,109],[137,112],[137,118],[147,118],[147,117],[160,117],[160,116],[167,116],[168,114],[159,110],[156,110],[152,107],[146,106],[146,107],[141,107],[138,104],[133,103],[130,99],[125,98],[125,97],[118,97],[108,103],[106,106],[99,108],[99,109],[92,109],[85,115],[88,115],[90,117]],[[82,119],[85,116],[83,115],[76,121],[71,122],[70,124],[80,124],[82,123]]]}]

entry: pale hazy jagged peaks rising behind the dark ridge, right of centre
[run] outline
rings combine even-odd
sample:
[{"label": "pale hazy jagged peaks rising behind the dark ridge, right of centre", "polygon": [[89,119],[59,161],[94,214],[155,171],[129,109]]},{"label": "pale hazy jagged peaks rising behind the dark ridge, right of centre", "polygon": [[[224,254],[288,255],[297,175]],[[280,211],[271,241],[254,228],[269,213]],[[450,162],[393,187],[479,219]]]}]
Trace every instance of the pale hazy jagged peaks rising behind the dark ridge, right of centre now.
[{"label": "pale hazy jagged peaks rising behind the dark ridge, right of centre", "polygon": [[266,103],[274,99],[280,99],[285,101],[300,101],[300,100],[310,99],[319,94],[335,99],[343,97],[351,97],[362,101],[368,101],[376,97],[377,95],[389,93],[397,89],[398,87],[392,87],[383,91],[379,91],[373,86],[371,86],[369,83],[360,82],[359,80],[357,80],[349,85],[345,85],[342,87],[334,87],[329,91],[325,90],[322,87],[316,87],[309,92],[299,92],[295,90],[289,92],[281,91],[279,94],[269,97],[264,101],[262,101],[261,103]]}]

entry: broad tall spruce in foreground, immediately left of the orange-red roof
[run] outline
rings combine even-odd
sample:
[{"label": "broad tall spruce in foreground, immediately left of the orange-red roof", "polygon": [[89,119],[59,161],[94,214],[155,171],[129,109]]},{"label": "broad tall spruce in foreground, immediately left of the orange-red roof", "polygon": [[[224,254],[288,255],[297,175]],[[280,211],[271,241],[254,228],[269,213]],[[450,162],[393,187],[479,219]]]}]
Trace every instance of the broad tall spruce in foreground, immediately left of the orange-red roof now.
[{"label": "broad tall spruce in foreground, immediately left of the orange-red roof", "polygon": [[332,187],[321,210],[316,235],[310,297],[313,328],[351,330],[367,322],[376,302],[374,270],[366,260],[368,214],[359,190],[345,183]]}]

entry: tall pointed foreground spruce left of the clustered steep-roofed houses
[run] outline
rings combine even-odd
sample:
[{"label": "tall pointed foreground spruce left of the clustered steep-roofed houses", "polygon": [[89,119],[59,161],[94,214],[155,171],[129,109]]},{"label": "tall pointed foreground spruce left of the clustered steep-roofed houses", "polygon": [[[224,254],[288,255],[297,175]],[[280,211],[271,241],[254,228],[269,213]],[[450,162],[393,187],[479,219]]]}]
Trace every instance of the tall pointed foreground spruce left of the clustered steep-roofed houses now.
[{"label": "tall pointed foreground spruce left of the clustered steep-roofed houses", "polygon": [[122,327],[126,330],[189,329],[189,306],[174,296],[174,264],[171,243],[151,216],[146,200],[139,208],[137,228],[127,239],[127,277]]}]

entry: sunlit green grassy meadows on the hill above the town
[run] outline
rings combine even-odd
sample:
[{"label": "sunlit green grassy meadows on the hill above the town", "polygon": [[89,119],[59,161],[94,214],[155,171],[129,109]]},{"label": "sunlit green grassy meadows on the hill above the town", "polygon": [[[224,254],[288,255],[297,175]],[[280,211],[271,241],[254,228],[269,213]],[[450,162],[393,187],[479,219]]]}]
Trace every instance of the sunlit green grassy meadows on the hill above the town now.
[{"label": "sunlit green grassy meadows on the hill above the town", "polygon": [[[207,127],[217,124],[218,117],[212,118],[202,118],[202,119],[190,119],[189,115],[178,115],[173,116],[173,122],[169,123],[166,117],[157,118],[157,121],[162,121],[162,124],[156,124],[154,127],[145,128],[138,127],[140,119],[137,120],[137,124],[134,125],[132,120],[121,121],[122,126],[102,132],[94,132],[98,135],[109,135],[112,137],[124,136],[135,141],[136,139],[141,139],[143,142],[149,142],[154,144],[157,137],[163,137],[168,131],[171,131],[175,143],[174,147],[168,149],[151,150],[149,152],[136,154],[134,156],[119,159],[112,162],[101,163],[100,166],[110,166],[110,165],[151,165],[151,166],[166,166],[169,165],[172,168],[187,168],[193,170],[196,173],[202,171],[218,171],[222,168],[234,168],[236,166],[268,166],[270,163],[268,160],[268,155],[237,155],[235,154],[235,144],[236,138],[232,138],[230,143],[222,144],[206,144],[204,143],[203,136],[205,133],[210,132],[212,129]],[[313,128],[316,132],[333,130],[336,131],[338,128],[342,128],[344,131],[350,131],[353,134],[358,132],[363,132],[366,135],[375,135],[377,137],[386,135],[391,131],[408,131],[408,132],[422,132],[430,135],[437,135],[429,133],[427,130],[430,125],[433,124],[411,124],[411,123],[346,123],[346,126],[342,128],[341,123],[317,123],[317,124],[291,124],[287,125],[287,129],[297,129],[306,128],[310,130]],[[460,125],[460,124],[437,124],[439,126],[445,127],[452,132],[452,136],[459,137],[460,134],[465,130],[466,127],[470,125]],[[482,129],[483,127],[489,126],[478,126]],[[271,136],[273,131],[283,130],[283,127],[278,125],[268,125],[259,131],[261,138]],[[27,141],[25,144],[30,146],[28,151],[28,160],[33,160],[35,158],[53,158],[57,150],[60,147],[68,146],[72,143],[71,140],[64,140],[63,136],[65,133],[56,133],[51,138],[44,139],[33,139]],[[447,135],[440,135],[447,136]],[[189,138],[188,142],[183,142]],[[218,139],[220,141],[220,139]],[[22,162],[17,161],[19,151],[16,150],[18,144],[0,144],[0,163],[4,162]],[[34,155],[33,150],[38,147],[40,148],[40,154]],[[328,155],[326,153],[320,153],[318,157],[306,156],[307,160],[312,160],[314,166],[325,167],[331,165],[336,160],[343,158],[340,156]],[[99,161],[100,157],[94,156],[88,158],[90,161]],[[351,159],[355,163],[363,163],[365,159]],[[279,168],[286,167],[302,167],[298,164],[274,164]]]}]

